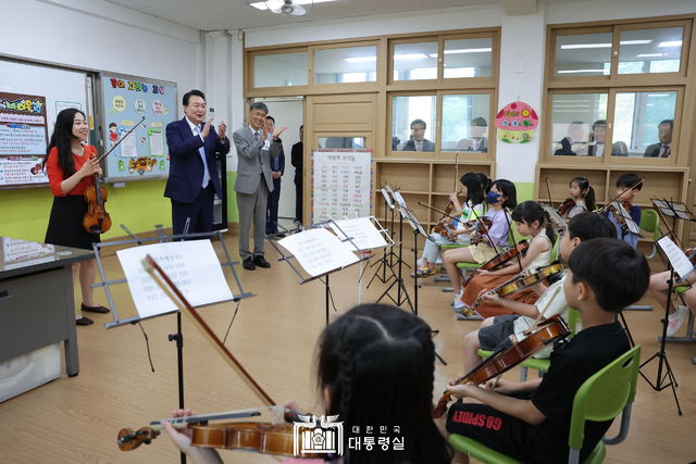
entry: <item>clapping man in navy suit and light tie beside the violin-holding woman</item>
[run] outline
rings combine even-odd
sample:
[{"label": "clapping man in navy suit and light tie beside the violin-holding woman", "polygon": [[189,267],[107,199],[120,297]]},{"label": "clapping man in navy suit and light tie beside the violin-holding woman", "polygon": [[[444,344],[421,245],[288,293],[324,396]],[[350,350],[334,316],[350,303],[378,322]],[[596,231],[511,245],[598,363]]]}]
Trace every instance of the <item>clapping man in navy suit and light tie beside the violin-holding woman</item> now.
[{"label": "clapping man in navy suit and light tie beside the violin-holding woman", "polygon": [[174,235],[184,233],[188,217],[191,220],[189,234],[211,231],[213,195],[223,198],[215,152],[229,152],[229,140],[225,136],[227,126],[223,121],[215,133],[212,117],[203,124],[206,111],[203,92],[191,90],[184,95],[186,117],[166,125],[170,177],[164,197],[172,200]]}]

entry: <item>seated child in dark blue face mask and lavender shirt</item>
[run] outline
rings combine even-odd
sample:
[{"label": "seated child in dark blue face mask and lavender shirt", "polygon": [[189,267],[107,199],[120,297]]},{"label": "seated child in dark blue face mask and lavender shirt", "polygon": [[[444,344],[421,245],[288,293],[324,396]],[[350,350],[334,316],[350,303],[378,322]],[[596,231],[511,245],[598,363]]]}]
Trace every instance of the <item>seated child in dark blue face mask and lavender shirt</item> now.
[{"label": "seated child in dark blue face mask and lavender shirt", "polygon": [[514,184],[507,179],[494,181],[490,186],[490,191],[486,196],[486,201],[490,205],[490,209],[486,212],[486,217],[493,222],[493,225],[487,230],[480,229],[478,235],[473,230],[470,233],[474,242],[480,242],[472,247],[456,248],[443,253],[445,268],[455,290],[455,302],[461,296],[462,283],[462,274],[457,267],[457,263],[483,264],[495,258],[496,250],[500,250],[500,247],[508,246],[510,215],[506,209],[514,208],[518,204]]}]

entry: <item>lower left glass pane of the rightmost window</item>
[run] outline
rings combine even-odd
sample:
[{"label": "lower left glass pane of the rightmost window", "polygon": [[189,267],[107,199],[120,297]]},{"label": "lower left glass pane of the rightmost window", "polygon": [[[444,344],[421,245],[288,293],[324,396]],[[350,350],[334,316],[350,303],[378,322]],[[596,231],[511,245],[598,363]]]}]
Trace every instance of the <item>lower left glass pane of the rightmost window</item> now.
[{"label": "lower left glass pane of the rightmost window", "polygon": [[551,154],[602,156],[607,99],[608,93],[554,95]]}]

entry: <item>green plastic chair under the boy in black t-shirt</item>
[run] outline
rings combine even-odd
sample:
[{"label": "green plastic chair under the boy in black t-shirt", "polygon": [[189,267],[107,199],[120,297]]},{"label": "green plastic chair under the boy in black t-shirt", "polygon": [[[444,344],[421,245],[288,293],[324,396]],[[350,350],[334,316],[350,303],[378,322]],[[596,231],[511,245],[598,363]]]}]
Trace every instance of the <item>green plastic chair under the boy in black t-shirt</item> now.
[{"label": "green plastic chair under the boy in black t-shirt", "polygon": [[[583,464],[601,463],[607,455],[605,446],[619,444],[626,438],[631,423],[631,409],[635,400],[639,363],[641,344],[619,356],[607,367],[585,380],[580,387],[573,401],[570,436],[568,438],[568,444],[570,446],[569,464],[577,464],[580,462],[580,450],[585,438],[586,421],[609,421],[622,414],[619,435],[599,440]],[[450,435],[449,442],[457,450],[484,463],[519,464],[518,461],[461,435]]]}]

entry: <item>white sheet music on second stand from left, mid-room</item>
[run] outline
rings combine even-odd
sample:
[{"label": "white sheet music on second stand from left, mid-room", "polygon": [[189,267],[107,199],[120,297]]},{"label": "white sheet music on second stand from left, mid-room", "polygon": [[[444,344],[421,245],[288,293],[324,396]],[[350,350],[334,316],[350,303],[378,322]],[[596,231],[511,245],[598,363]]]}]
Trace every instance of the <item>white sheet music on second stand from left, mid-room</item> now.
[{"label": "white sheet music on second stand from left, mid-room", "polygon": [[356,249],[324,228],[294,234],[278,241],[312,277],[358,262]]}]

